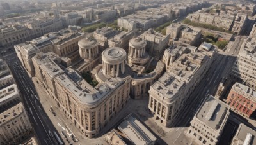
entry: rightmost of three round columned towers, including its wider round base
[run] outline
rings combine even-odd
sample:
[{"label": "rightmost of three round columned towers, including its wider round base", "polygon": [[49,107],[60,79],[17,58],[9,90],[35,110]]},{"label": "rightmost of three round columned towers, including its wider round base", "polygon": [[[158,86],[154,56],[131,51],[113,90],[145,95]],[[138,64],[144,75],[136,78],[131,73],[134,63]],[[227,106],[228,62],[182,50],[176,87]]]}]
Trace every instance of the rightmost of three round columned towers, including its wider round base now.
[{"label": "rightmost of three round columned towers, including its wider round base", "polygon": [[149,55],[146,51],[147,42],[141,38],[133,38],[129,41],[129,64],[138,64],[143,66],[149,60]]}]

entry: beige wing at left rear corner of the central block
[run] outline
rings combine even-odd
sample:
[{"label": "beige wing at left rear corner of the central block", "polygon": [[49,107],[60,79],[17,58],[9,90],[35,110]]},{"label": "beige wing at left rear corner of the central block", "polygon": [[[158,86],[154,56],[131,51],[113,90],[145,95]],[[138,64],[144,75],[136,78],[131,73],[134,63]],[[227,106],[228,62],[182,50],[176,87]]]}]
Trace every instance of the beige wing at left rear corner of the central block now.
[{"label": "beige wing at left rear corner of the central block", "polygon": [[62,29],[59,32],[45,34],[45,36],[33,39],[29,43],[15,45],[14,48],[21,64],[31,76],[34,76],[35,69],[31,59],[36,53],[54,52],[60,57],[67,57],[70,60],[65,58],[62,60],[68,66],[71,62],[76,62],[79,59],[78,41],[82,38],[84,38],[83,33]]}]

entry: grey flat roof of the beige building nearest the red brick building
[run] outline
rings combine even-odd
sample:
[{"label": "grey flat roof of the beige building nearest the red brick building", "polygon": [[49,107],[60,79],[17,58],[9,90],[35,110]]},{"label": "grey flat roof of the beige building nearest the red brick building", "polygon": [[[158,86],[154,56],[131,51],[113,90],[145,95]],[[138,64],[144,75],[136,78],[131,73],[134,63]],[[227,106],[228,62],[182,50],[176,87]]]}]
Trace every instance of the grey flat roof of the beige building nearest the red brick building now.
[{"label": "grey flat roof of the beige building nearest the red brick building", "polygon": [[194,118],[202,121],[213,130],[220,132],[225,126],[228,115],[229,106],[227,104],[212,95],[207,95]]}]

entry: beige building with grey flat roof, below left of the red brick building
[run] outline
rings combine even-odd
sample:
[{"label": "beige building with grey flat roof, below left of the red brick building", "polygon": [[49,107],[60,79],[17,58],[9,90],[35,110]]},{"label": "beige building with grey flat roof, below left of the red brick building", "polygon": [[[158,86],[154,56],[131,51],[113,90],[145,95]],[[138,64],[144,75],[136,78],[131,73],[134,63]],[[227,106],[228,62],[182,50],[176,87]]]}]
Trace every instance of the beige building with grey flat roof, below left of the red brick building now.
[{"label": "beige building with grey flat roof, below left of the red brick building", "polygon": [[227,123],[229,107],[207,95],[188,128],[188,136],[198,144],[217,144]]}]

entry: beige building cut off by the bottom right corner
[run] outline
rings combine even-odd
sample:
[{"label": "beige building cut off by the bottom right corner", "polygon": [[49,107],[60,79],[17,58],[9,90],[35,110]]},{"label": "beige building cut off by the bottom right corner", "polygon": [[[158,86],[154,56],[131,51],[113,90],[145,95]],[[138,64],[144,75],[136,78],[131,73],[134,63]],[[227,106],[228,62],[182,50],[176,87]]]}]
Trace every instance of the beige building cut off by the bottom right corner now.
[{"label": "beige building cut off by the bottom right corner", "polygon": [[256,144],[255,136],[255,130],[244,124],[240,124],[237,128],[236,135],[232,139],[231,145]]}]

